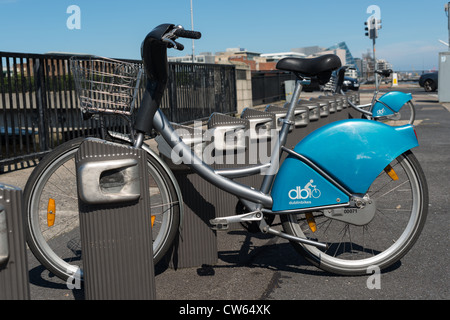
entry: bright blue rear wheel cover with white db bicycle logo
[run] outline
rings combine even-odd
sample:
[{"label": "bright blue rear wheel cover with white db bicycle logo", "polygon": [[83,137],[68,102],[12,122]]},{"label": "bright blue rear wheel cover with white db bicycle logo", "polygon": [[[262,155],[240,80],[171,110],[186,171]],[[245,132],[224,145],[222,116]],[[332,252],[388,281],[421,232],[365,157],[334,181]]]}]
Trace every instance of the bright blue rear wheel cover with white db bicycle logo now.
[{"label": "bright blue rear wheel cover with white db bicycle logo", "polygon": [[[392,160],[417,146],[411,125],[391,127],[376,121],[351,119],[317,129],[298,143],[294,151],[314,162],[350,193],[365,194]],[[334,185],[306,167],[291,155],[282,163],[272,188],[273,211],[349,200]],[[306,187],[311,180],[314,180],[314,187],[322,191],[320,197],[313,197],[314,189]],[[326,197],[328,194],[330,196]]]}]

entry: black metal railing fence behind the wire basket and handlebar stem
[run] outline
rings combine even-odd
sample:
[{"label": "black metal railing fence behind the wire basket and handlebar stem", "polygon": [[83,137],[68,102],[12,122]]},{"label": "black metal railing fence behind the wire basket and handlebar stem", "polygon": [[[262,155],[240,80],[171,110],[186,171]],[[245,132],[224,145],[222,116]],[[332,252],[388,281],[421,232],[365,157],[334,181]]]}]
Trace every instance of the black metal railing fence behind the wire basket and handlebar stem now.
[{"label": "black metal railing fence behind the wire basket and handlebar stem", "polygon": [[[34,161],[70,139],[99,134],[96,120],[81,117],[69,59],[0,52],[0,172]],[[234,66],[169,63],[169,69],[161,109],[171,121],[236,112]],[[108,128],[127,130],[120,117],[105,122]]]}]

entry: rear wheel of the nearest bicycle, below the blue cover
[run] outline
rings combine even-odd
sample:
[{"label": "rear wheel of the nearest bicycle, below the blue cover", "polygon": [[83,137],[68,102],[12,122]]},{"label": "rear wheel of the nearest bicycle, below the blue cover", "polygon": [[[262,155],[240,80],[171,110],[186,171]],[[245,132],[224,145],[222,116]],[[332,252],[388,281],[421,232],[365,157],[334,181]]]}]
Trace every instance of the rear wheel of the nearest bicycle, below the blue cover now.
[{"label": "rear wheel of the nearest bicycle, below the blue cover", "polygon": [[[315,266],[343,275],[367,274],[369,268],[387,268],[414,245],[425,224],[428,188],[415,156],[405,152],[390,163],[370,186],[367,195],[376,203],[374,217],[365,225],[313,213],[313,232],[305,214],[281,216],[286,233],[327,243],[328,249],[292,242],[297,251]],[[390,174],[388,174],[390,172]]]}]

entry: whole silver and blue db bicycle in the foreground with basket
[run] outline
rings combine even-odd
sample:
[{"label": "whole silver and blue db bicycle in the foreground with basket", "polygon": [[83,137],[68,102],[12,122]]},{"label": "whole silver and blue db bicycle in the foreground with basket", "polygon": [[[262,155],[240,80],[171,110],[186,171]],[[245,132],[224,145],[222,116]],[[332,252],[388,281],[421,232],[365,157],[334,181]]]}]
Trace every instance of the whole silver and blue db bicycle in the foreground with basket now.
[{"label": "whole silver and blue db bicycle in the foreground with basket", "polygon": [[[146,36],[141,53],[147,82],[134,132],[130,136],[111,133],[116,141],[147,152],[155,262],[172,245],[184,204],[171,170],[144,143],[145,135],[153,132],[199,176],[240,200],[242,213],[213,219],[211,227],[226,230],[230,223],[251,222],[263,233],[288,239],[314,265],[337,274],[366,274],[372,266],[383,269],[403,257],[418,239],[428,208],[425,175],[411,151],[418,146],[414,127],[343,120],[317,129],[293,149],[286,148],[302,87],[312,77],[326,83],[341,62],[336,55],[285,58],[277,68],[294,73],[297,82],[270,163],[214,169],[184,143],[159,109],[168,81],[168,48],[182,50],[178,38],[200,36],[173,24],[160,25]],[[130,106],[135,101],[136,79],[142,74],[140,66],[109,59],[74,59],[72,69],[86,113],[134,112]],[[131,91],[125,95],[114,86]],[[66,250],[71,256],[56,249],[67,247],[67,240],[61,239],[72,239],[66,235],[77,230],[78,196],[76,189],[68,188],[76,186],[73,159],[81,142],[70,141],[46,156],[25,188],[28,244],[39,261],[63,279],[81,264],[76,244]],[[283,152],[287,157],[279,165]],[[260,188],[233,180],[262,171],[266,174]],[[62,225],[49,216],[52,210]],[[273,216],[280,217],[283,230],[270,224]]]}]

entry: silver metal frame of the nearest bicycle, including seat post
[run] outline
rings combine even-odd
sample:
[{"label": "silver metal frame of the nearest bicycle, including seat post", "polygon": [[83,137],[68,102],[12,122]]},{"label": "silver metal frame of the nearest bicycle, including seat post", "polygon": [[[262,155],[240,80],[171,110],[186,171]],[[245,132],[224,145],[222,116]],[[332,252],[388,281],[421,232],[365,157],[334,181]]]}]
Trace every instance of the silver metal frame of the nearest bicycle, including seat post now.
[{"label": "silver metal frame of the nearest bicycle, including seat post", "polygon": [[[244,213],[241,215],[234,215],[230,217],[222,217],[218,219],[213,219],[210,222],[216,225],[228,225],[228,223],[235,222],[243,222],[243,221],[258,221],[259,228],[262,232],[269,233],[272,235],[276,235],[290,241],[296,241],[312,246],[316,246],[318,248],[326,249],[327,245],[324,243],[320,243],[317,241],[309,240],[306,238],[298,238],[292,235],[289,235],[284,232],[280,232],[278,230],[270,228],[267,225],[266,221],[263,219],[263,211],[268,214],[289,214],[292,212],[272,212],[270,209],[273,205],[273,199],[269,195],[270,188],[275,179],[275,176],[278,172],[280,155],[283,150],[287,150],[284,148],[284,144],[287,140],[287,135],[289,133],[289,128],[292,125],[292,121],[290,119],[294,116],[295,110],[295,101],[298,101],[300,97],[300,93],[302,91],[302,87],[304,84],[309,83],[309,80],[298,80],[296,82],[295,90],[293,93],[292,102],[288,108],[287,115],[285,120],[283,121],[283,126],[280,130],[278,139],[276,141],[276,145],[274,147],[274,152],[271,155],[270,163],[256,165],[252,167],[246,168],[234,168],[234,169],[222,169],[222,170],[213,170],[210,166],[203,162],[197,155],[193,152],[193,150],[187,146],[183,140],[179,137],[176,131],[171,126],[169,120],[166,118],[164,113],[158,109],[153,118],[153,127],[156,131],[158,131],[164,140],[169,144],[170,147],[179,149],[181,151],[181,159],[185,162],[189,167],[191,167],[198,175],[200,175],[203,179],[208,181],[209,183],[219,187],[220,189],[229,192],[235,196],[237,196],[244,205],[251,210],[252,212]],[[139,138],[140,141],[142,138]],[[264,176],[262,185],[260,190],[256,190],[250,186],[242,185],[238,182],[231,180],[230,178],[248,176],[253,174],[258,174],[263,169],[269,169],[270,174],[266,174]],[[335,208],[336,206],[325,206],[325,208]],[[318,209],[318,208],[315,208]],[[300,210],[299,212],[301,212]]]}]

